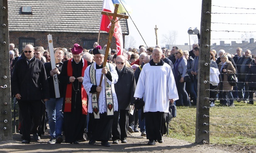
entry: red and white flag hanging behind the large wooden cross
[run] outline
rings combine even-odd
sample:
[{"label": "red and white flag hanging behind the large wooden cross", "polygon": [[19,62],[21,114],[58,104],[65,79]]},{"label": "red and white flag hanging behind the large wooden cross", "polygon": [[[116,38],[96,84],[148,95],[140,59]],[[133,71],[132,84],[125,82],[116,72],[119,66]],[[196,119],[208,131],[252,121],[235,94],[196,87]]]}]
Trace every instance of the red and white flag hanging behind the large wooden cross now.
[{"label": "red and white flag hanging behind the large wooden cross", "polygon": [[[115,7],[114,7],[112,0],[104,0],[103,1],[102,11],[114,13],[114,10],[115,10]],[[110,16],[110,19],[112,19],[112,18],[113,17]],[[111,27],[110,19],[107,15],[101,15],[100,30],[107,31],[107,32],[110,31],[110,27]],[[116,20],[118,20],[118,18],[116,18]],[[114,29],[113,36],[116,38],[117,55],[122,55],[122,53],[123,53],[123,36],[122,36],[122,29],[121,29],[119,21],[115,23],[115,29]]]}]

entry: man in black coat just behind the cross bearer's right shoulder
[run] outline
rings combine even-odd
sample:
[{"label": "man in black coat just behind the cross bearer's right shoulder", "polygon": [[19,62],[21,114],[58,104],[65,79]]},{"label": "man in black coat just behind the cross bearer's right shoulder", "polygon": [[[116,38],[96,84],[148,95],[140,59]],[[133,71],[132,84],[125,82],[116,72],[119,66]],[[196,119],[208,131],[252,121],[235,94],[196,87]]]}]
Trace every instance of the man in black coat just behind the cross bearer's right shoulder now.
[{"label": "man in black coat just behind the cross bearer's right shoulder", "polygon": [[118,144],[119,140],[122,143],[127,143],[129,109],[130,105],[134,109],[135,98],[133,96],[136,88],[133,70],[125,67],[126,58],[123,55],[119,55],[116,61],[118,81],[115,84],[115,92],[117,94],[118,112],[114,112],[112,124],[113,144]]}]

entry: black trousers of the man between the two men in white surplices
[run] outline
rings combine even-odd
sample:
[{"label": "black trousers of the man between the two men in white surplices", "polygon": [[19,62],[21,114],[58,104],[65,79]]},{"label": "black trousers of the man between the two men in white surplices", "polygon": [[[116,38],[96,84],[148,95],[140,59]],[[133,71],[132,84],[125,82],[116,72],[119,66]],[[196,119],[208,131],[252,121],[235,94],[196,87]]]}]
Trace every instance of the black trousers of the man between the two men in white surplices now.
[{"label": "black trousers of the man between the two men in white surplices", "polygon": [[129,110],[114,112],[112,124],[112,140],[126,140],[129,122]]}]

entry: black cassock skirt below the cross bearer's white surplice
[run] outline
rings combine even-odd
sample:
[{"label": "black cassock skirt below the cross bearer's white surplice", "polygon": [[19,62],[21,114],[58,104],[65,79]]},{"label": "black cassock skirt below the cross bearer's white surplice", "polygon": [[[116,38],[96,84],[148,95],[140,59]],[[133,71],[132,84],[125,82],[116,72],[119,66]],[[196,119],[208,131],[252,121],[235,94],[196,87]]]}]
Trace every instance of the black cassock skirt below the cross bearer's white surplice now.
[{"label": "black cassock skirt below the cross bearer's white surplice", "polygon": [[[114,112],[115,113],[115,112]],[[100,114],[100,119],[95,119],[93,113],[90,114],[92,121],[92,138],[95,141],[108,141],[112,130],[113,116],[107,115],[107,112]]]}]

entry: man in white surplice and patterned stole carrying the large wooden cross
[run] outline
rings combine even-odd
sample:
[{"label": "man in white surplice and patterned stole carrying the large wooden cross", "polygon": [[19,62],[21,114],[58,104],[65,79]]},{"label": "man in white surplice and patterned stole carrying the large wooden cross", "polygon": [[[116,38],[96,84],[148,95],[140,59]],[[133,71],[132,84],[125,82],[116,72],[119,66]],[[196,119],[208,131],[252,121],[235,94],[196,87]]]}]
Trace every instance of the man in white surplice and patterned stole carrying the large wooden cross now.
[{"label": "man in white surplice and patterned stole carrying the large wooden cross", "polygon": [[[99,46],[100,47],[100,46]],[[113,122],[113,114],[109,112],[118,111],[117,95],[114,84],[117,83],[118,74],[114,65],[107,63],[103,67],[105,51],[98,46],[93,49],[95,62],[85,69],[83,87],[88,94],[89,124],[88,131],[92,132],[89,144],[101,141],[102,146],[110,146],[108,142]],[[103,75],[102,84],[100,77]],[[96,93],[100,92],[98,102]]]}]

